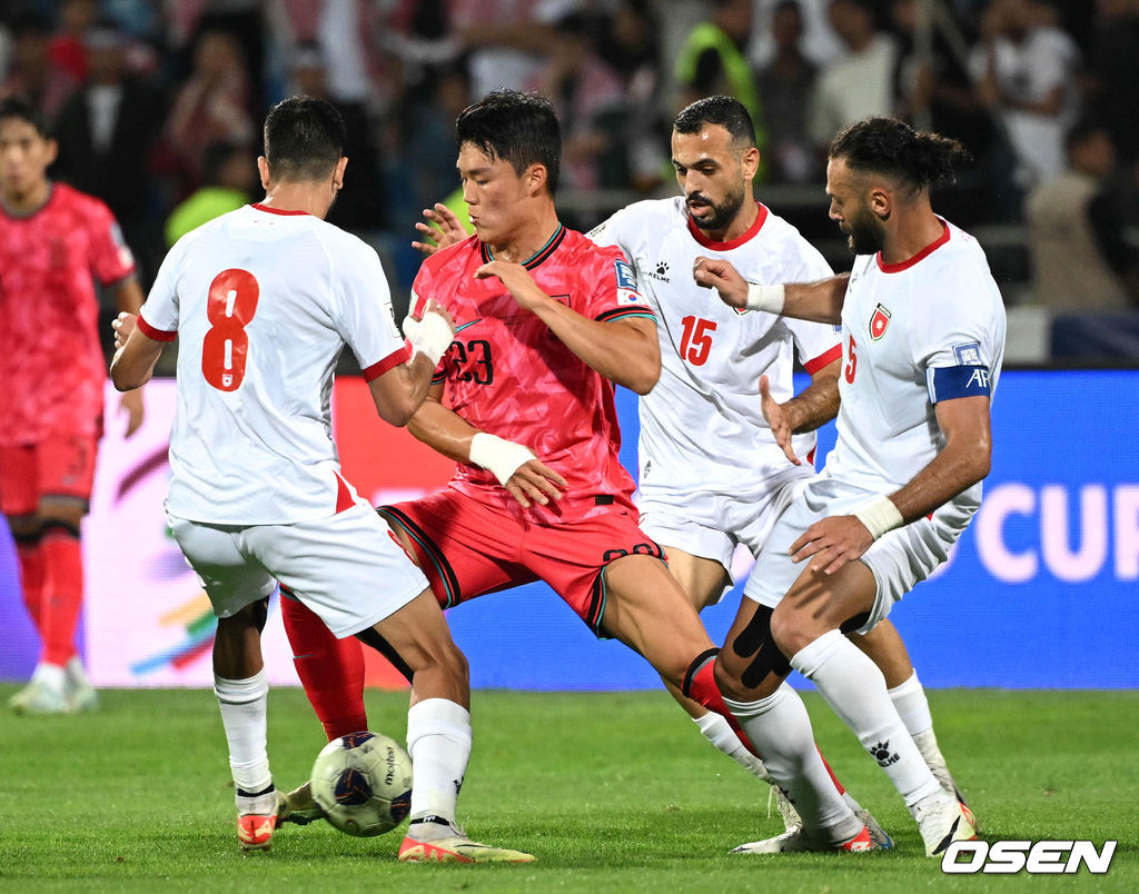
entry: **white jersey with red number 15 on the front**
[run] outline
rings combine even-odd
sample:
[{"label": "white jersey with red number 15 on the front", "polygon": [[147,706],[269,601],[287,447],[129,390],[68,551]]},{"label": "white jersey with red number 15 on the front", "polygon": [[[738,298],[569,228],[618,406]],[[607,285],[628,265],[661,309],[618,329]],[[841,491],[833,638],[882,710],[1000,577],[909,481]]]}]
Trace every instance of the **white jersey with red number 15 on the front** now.
[{"label": "white jersey with red number 15 on the front", "polygon": [[[788,467],[760,407],[760,376],[778,401],[794,394],[793,350],[813,372],[838,359],[835,328],[757,311],[739,313],[693,279],[698,255],[723,257],[751,282],[808,282],[831,274],[787,221],[759,205],[753,227],[714,243],[689,221],[683,197],[638,202],[589,237],[620,246],[657,314],[661,379],[640,399],[641,490],[762,493]],[[808,456],[814,435],[796,436]]]}]

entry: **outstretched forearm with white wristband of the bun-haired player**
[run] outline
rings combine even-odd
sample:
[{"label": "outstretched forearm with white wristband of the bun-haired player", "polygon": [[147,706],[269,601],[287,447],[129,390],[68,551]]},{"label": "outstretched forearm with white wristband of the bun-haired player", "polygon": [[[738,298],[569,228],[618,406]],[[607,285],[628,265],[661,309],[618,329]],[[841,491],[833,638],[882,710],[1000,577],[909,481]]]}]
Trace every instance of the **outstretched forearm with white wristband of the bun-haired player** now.
[{"label": "outstretched forearm with white wristband of the bun-haired player", "polygon": [[764,286],[748,282],[721,257],[697,257],[693,265],[696,285],[714,288],[720,300],[737,310],[768,311],[796,320],[842,322],[843,298],[850,273],[818,282]]}]

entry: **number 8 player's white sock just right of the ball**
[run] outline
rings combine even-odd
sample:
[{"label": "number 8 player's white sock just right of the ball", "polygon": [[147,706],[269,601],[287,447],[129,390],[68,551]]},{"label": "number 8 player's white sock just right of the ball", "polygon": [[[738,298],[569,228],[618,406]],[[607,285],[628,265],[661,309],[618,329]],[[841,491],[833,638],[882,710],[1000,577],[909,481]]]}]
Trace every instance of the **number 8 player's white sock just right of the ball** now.
[{"label": "number 8 player's white sock just right of the ball", "polygon": [[411,819],[453,822],[459,788],[470,760],[470,712],[445,698],[426,698],[408,710],[411,755]]}]

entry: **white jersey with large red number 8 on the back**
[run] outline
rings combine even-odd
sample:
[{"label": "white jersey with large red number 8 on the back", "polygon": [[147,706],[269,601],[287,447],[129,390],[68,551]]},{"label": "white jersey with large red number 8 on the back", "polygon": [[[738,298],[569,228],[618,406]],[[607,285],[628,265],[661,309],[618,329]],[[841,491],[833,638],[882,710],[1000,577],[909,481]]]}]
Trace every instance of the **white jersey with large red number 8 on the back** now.
[{"label": "white jersey with large red number 8 on the back", "polygon": [[248,205],[174,245],[139,327],[181,337],[167,511],[261,525],[351,505],[331,438],[336,360],[349,344],[374,379],[408,358],[375,251],[310,214]]}]

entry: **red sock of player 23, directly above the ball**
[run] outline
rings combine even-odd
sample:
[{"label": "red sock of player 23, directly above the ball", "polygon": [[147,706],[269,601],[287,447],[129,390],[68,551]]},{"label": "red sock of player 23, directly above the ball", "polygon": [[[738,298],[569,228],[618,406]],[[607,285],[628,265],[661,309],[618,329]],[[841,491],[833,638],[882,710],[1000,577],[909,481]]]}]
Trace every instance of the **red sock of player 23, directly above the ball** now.
[{"label": "red sock of player 23, directly above the ball", "polygon": [[296,674],[328,740],[368,729],[360,641],[355,637],[336,639],[312,609],[284,590],[281,620]]}]

